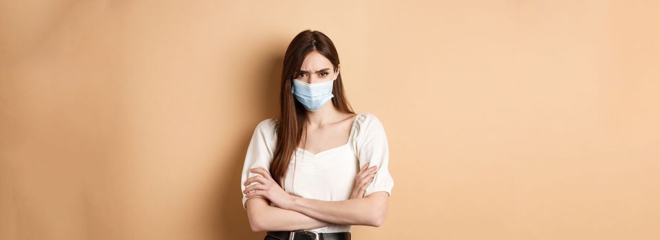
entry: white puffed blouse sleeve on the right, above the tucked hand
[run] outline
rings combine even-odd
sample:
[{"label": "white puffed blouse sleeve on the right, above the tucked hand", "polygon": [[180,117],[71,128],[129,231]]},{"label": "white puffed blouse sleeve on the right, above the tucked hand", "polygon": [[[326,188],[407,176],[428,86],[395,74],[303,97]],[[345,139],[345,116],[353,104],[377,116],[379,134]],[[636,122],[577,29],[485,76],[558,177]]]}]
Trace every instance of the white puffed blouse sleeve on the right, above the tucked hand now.
[{"label": "white puffed blouse sleeve on the right, above the tucked hand", "polygon": [[378,166],[374,180],[365,190],[365,197],[378,191],[385,191],[391,196],[394,179],[389,174],[389,147],[383,123],[369,112],[359,117],[356,147],[360,169],[367,163],[370,167]]}]

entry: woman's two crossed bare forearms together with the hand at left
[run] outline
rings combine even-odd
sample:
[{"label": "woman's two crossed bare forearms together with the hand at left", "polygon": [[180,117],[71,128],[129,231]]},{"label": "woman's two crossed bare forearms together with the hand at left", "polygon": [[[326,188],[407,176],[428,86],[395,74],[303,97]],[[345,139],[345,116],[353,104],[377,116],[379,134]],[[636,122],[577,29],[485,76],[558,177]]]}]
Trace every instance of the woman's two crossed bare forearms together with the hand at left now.
[{"label": "woman's two crossed bare forearms together with the hand at left", "polygon": [[[253,231],[299,230],[328,226],[329,224],[380,226],[387,214],[389,194],[376,192],[367,197],[343,201],[312,200],[289,195],[275,183],[267,171],[253,169],[262,177],[255,182],[260,186],[246,192],[248,218]],[[257,184],[255,184],[257,185]],[[254,190],[258,189],[258,190]],[[256,197],[255,197],[256,196]],[[271,206],[273,202],[275,206]]]}]

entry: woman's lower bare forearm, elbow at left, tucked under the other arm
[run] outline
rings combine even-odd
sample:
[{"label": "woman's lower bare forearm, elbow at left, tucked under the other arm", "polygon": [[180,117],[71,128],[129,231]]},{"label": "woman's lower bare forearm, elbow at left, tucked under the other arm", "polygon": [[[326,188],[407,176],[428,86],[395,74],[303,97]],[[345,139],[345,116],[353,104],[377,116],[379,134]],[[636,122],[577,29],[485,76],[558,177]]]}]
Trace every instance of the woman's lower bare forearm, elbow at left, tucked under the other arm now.
[{"label": "woman's lower bare forearm, elbow at left, tucked under the other arm", "polygon": [[296,211],[270,206],[261,198],[248,200],[247,208],[250,225],[255,232],[314,229],[329,225]]}]

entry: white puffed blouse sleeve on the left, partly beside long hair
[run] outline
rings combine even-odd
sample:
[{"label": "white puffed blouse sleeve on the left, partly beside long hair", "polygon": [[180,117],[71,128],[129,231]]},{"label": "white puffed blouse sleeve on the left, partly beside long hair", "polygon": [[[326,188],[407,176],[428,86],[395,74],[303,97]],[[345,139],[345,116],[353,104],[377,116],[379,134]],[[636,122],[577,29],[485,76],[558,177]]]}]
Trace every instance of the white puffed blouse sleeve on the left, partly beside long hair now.
[{"label": "white puffed blouse sleeve on the left, partly beside long hair", "polygon": [[245,186],[244,183],[248,178],[258,175],[257,173],[251,172],[250,169],[255,167],[262,167],[268,170],[271,166],[277,137],[275,131],[276,123],[277,119],[275,118],[266,119],[258,123],[252,134],[250,144],[247,147],[247,153],[245,154],[245,161],[243,163],[243,170],[240,176],[240,191],[243,195],[244,209],[247,209],[247,206],[245,206],[247,197],[245,197],[245,194],[242,193],[242,191],[248,187]]}]

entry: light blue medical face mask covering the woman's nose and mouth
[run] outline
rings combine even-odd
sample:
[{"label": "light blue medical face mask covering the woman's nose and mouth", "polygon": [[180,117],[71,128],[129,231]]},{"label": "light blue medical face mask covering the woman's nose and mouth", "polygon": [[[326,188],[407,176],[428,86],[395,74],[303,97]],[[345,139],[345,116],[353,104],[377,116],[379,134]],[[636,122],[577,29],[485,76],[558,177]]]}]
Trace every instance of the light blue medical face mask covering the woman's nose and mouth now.
[{"label": "light blue medical face mask covering the woman's nose and mouth", "polygon": [[326,82],[317,82],[308,84],[301,80],[293,80],[291,93],[307,110],[315,111],[326,104],[334,95],[332,95],[332,85],[334,80]]}]

